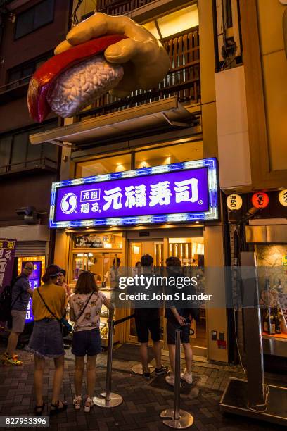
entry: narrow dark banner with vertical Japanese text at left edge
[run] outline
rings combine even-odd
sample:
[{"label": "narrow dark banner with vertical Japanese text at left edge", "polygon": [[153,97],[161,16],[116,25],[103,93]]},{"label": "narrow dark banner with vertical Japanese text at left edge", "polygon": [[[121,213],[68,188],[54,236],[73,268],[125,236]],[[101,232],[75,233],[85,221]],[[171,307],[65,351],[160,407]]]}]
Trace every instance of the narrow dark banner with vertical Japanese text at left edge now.
[{"label": "narrow dark banner with vertical Japanese text at left edge", "polygon": [[0,238],[0,294],[13,275],[16,239]]}]

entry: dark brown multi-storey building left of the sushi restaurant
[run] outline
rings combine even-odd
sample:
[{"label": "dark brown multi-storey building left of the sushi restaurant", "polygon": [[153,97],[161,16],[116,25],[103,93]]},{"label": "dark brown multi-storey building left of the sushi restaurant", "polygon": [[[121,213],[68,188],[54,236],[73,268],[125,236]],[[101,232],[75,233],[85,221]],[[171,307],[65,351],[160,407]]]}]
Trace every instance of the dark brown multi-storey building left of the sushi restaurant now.
[{"label": "dark brown multi-storey building left of the sushi restaurant", "polygon": [[43,268],[53,250],[49,201],[60,151],[49,143],[30,145],[29,135],[56,127],[58,118],[50,115],[35,124],[27,110],[27,87],[65,37],[69,16],[68,1],[0,2],[0,237],[17,239],[16,256],[41,257]]}]

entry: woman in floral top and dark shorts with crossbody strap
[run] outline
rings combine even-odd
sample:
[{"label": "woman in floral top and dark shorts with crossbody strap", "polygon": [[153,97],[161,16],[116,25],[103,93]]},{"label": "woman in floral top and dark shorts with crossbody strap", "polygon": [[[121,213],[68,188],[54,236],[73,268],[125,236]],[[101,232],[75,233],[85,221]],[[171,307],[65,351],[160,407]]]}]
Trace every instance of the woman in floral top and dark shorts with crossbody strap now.
[{"label": "woman in floral top and dark shorts with crossbody strap", "polygon": [[96,356],[101,351],[100,315],[101,307],[105,305],[113,318],[113,306],[110,300],[101,292],[95,282],[95,277],[89,271],[79,275],[75,294],[70,298],[70,320],[75,321],[72,337],[72,354],[75,355],[75,397],[76,410],[81,408],[82,380],[84,374],[84,357],[87,355],[87,398],[84,411],[89,412],[93,406],[94,386],[96,379]]}]

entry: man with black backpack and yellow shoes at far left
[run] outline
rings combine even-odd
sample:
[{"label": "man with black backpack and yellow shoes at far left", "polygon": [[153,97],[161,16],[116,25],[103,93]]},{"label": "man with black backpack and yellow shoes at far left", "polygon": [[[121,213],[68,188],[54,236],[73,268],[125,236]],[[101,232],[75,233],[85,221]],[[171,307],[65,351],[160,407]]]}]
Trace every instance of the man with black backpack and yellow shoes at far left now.
[{"label": "man with black backpack and yellow shoes at far left", "polygon": [[11,291],[11,317],[12,329],[8,337],[7,349],[1,357],[4,366],[21,366],[23,361],[15,354],[19,335],[22,334],[25,326],[25,318],[27,306],[29,304],[30,296],[33,291],[30,287],[29,277],[34,270],[32,262],[25,262],[22,273],[16,278],[12,285]]}]

